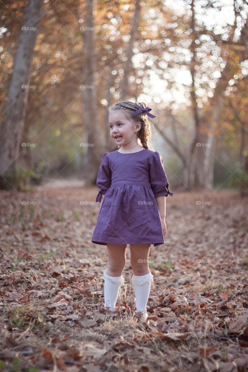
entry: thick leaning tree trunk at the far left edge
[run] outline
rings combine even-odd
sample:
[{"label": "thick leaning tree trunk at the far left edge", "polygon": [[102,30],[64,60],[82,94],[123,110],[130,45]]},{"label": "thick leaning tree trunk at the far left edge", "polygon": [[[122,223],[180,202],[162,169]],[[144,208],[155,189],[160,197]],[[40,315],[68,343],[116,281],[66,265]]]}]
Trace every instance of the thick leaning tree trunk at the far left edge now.
[{"label": "thick leaning tree trunk at the far left edge", "polygon": [[36,35],[43,15],[42,0],[29,0],[13,67],[0,137],[0,187],[10,185],[5,177],[15,173],[28,102],[30,65]]}]

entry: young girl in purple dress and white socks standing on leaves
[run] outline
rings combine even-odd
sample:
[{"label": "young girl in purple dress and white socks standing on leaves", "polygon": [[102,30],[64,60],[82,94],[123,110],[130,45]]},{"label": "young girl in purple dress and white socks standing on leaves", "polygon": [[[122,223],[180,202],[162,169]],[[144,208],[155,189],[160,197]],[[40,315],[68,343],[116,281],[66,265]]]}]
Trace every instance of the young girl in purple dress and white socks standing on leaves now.
[{"label": "young girl in purple dress and white socks standing on leaves", "polygon": [[[105,307],[115,310],[130,244],[132,282],[137,319],[146,321],[146,305],[153,275],[149,270],[150,244],[164,244],[165,198],[174,193],[157,151],[149,149],[151,109],[142,103],[118,102],[109,108],[109,128],[118,150],[104,153],[96,184],[101,209],[92,243],[103,244],[108,252],[104,270]],[[105,196],[103,196],[105,195]]]}]

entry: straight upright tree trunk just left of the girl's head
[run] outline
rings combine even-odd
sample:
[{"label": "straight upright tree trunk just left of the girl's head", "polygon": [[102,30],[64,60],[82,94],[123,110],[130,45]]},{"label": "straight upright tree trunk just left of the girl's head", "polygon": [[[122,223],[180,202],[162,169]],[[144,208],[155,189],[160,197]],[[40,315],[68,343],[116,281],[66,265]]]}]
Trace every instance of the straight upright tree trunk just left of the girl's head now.
[{"label": "straight upright tree trunk just left of the girl's head", "polygon": [[98,120],[98,97],[95,73],[96,57],[94,48],[94,1],[86,0],[85,27],[83,32],[83,84],[82,96],[84,105],[84,122],[86,128],[87,142],[85,143],[87,154],[86,174],[88,179],[86,186],[95,185],[99,165],[101,164],[104,147],[102,145],[102,129]]}]

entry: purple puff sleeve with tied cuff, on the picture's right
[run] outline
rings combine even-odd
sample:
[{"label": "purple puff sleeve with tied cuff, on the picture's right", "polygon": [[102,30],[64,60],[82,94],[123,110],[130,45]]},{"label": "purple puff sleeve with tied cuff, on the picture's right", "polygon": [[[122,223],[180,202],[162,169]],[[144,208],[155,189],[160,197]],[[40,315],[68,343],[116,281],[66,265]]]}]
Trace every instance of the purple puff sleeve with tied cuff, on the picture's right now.
[{"label": "purple puff sleeve with tied cuff, on the picture's right", "polygon": [[150,184],[155,198],[161,195],[171,195],[174,193],[169,190],[165,170],[163,168],[163,159],[158,151],[155,151],[149,159]]}]

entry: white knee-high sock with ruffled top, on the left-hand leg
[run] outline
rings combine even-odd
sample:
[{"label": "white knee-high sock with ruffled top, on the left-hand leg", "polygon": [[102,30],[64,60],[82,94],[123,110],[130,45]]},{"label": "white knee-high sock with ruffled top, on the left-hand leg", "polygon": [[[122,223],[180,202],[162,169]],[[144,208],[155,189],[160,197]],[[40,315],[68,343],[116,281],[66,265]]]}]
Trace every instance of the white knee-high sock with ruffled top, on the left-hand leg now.
[{"label": "white knee-high sock with ruffled top, on the left-hand leg", "polygon": [[120,286],[124,284],[123,276],[109,276],[104,270],[104,306],[109,307],[111,311],[115,310]]}]

